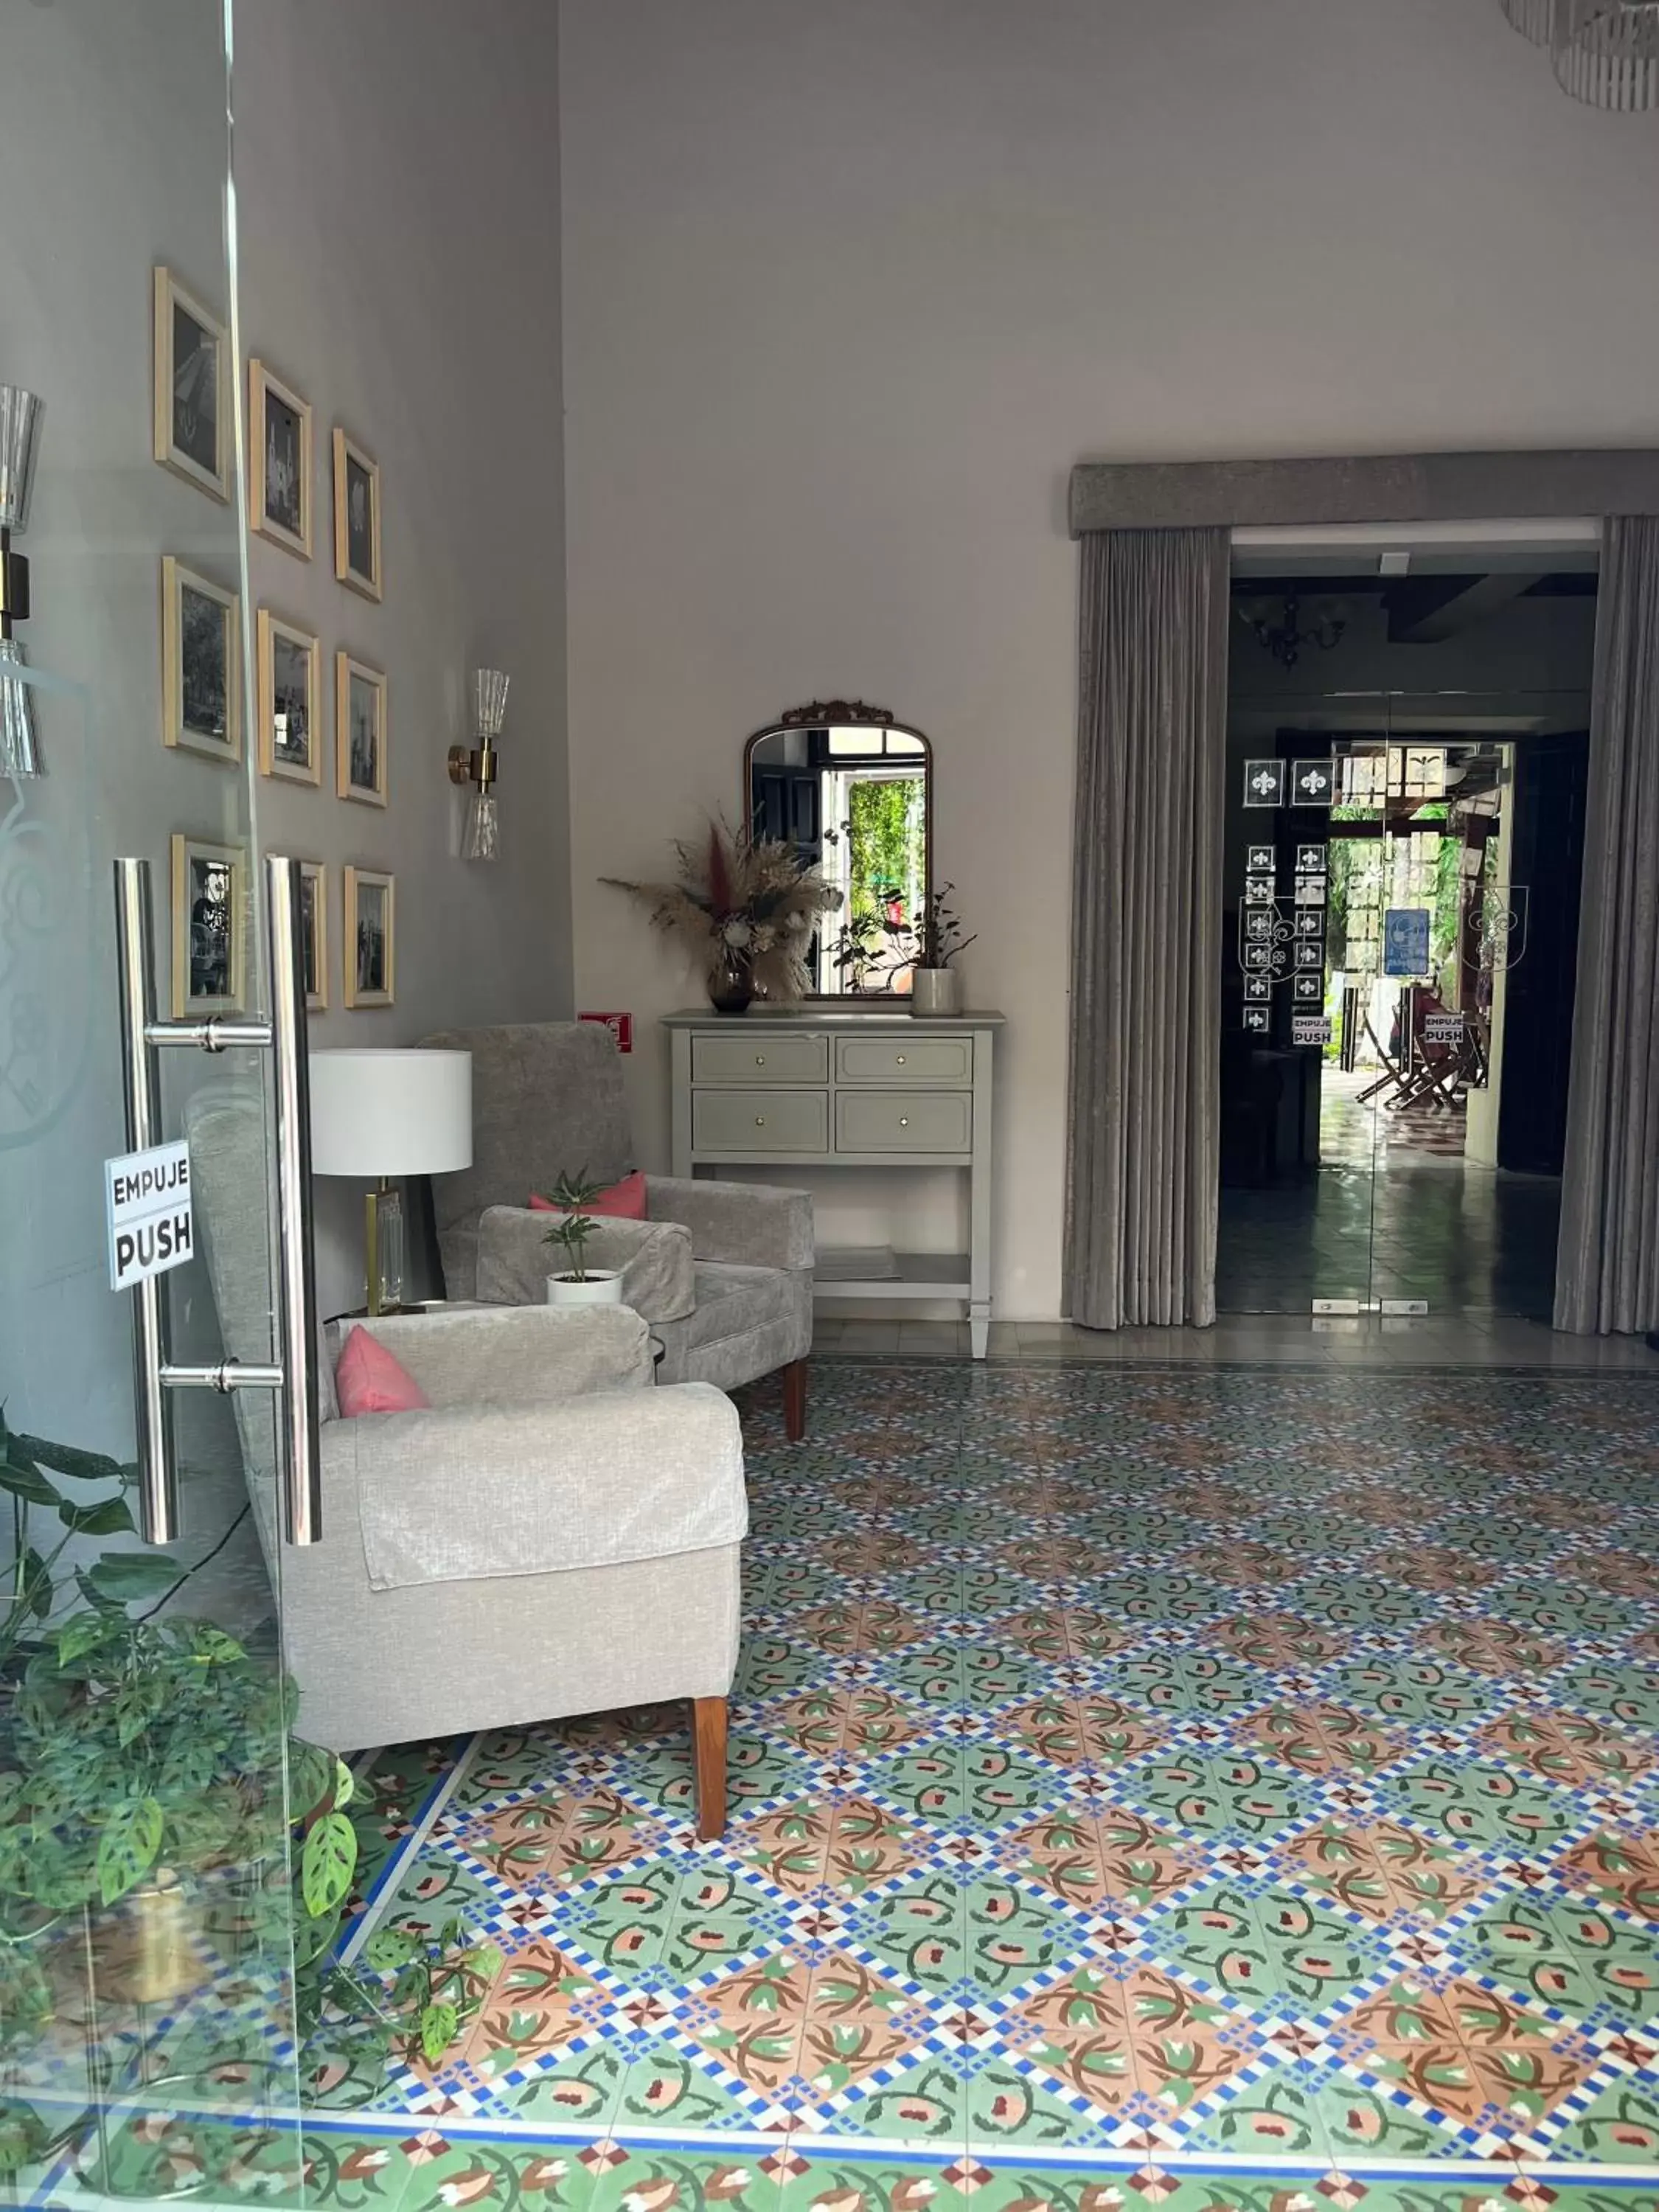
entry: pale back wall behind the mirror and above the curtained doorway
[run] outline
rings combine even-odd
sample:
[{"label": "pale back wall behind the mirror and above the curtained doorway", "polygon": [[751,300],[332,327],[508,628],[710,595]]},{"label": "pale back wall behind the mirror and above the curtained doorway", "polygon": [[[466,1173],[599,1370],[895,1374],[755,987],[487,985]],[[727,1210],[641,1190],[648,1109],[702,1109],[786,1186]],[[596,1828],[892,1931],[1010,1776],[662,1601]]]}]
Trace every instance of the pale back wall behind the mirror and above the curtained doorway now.
[{"label": "pale back wall behind the mirror and above the curtained doorway", "polygon": [[1011,1015],[998,1296],[1060,1305],[1079,458],[1659,438],[1659,124],[1493,0],[564,0],[575,973],[748,730],[929,732]]}]

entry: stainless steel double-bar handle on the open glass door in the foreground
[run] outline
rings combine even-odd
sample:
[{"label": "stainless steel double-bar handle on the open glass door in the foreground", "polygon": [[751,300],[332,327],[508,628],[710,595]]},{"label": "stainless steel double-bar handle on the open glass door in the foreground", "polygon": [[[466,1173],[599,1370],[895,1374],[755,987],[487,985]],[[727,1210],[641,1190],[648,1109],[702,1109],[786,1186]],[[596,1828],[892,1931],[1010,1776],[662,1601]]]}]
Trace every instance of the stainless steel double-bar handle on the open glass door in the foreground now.
[{"label": "stainless steel double-bar handle on the open glass door in the foreground", "polygon": [[142,1152],[161,1141],[159,1048],[192,1044],[221,1053],[232,1044],[270,1046],[276,1075],[276,1360],[234,1358],[179,1367],[170,1356],[161,1281],[133,1296],[133,1398],[137,1416],[139,1535],[173,1544],[179,1535],[179,1471],[173,1451],[175,1389],[276,1389],[283,1535],[316,1544],[323,1533],[321,1444],[316,1431],[316,1261],[310,1219],[310,1084],[305,1057],[305,947],[299,860],[265,860],[265,920],[272,960],[270,1022],[159,1022],[155,1018],[155,922],[150,863],[115,863],[115,945],[122,1002],[126,1144]]}]

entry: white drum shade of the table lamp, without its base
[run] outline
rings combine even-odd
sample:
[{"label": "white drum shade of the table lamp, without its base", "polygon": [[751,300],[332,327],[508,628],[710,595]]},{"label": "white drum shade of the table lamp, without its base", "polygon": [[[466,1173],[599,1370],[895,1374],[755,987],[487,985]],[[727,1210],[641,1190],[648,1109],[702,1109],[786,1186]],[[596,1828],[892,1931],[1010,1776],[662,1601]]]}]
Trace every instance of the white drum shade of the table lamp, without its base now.
[{"label": "white drum shade of the table lamp, without its base", "polygon": [[451,1175],[471,1164],[471,1053],[312,1053],[312,1175]]}]

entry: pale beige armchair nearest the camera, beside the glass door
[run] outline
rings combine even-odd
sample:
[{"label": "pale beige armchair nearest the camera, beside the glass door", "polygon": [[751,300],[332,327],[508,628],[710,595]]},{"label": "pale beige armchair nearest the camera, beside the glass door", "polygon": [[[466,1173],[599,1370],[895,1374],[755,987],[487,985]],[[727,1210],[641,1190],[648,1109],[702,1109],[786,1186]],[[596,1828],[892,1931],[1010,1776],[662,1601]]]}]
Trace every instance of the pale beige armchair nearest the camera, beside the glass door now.
[{"label": "pale beige armchair nearest the camera, beside the glass door", "polygon": [[[265,1360],[259,1102],[215,1091],[186,1128],[226,1354]],[[352,1327],[396,1354],[429,1409],[341,1418],[334,1363]],[[697,1827],[721,1834],[743,1440],[721,1391],[650,1383],[646,1323],[626,1307],[334,1323],[323,1540],[281,1562],[272,1409],[237,1396],[305,1736],[354,1752],[690,1699]]]}]

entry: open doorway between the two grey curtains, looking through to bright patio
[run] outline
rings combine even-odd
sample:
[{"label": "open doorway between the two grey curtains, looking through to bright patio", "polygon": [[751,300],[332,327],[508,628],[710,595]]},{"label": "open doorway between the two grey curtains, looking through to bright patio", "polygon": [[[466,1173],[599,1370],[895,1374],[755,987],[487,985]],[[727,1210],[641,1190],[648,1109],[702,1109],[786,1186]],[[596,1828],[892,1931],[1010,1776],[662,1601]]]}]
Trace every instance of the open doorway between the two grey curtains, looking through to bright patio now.
[{"label": "open doorway between the two grey curtains, looking through to bright patio", "polygon": [[1595,546],[1234,566],[1217,1303],[1548,1318]]}]

